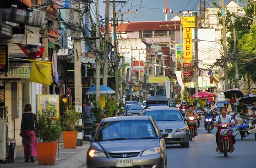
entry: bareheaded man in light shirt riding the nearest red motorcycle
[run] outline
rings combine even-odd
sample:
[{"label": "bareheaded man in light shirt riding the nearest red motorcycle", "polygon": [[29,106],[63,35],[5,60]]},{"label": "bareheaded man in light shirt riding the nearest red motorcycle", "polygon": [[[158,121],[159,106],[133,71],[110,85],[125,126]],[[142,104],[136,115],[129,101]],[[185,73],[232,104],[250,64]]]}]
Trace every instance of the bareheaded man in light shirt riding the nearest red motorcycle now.
[{"label": "bareheaded man in light shirt riding the nearest red motorcycle", "polygon": [[[232,117],[230,115],[227,114],[227,108],[226,107],[221,107],[221,115],[216,117],[216,120],[214,121],[214,126],[216,127],[217,124],[221,124],[221,123],[228,123],[231,125],[235,125],[235,121],[232,119]],[[219,151],[218,148],[218,133],[219,133],[220,129],[218,127],[218,130],[216,132],[216,143],[217,143],[217,147],[216,147],[216,151]],[[232,136],[232,141],[233,141],[233,151],[235,151],[235,143],[236,143],[236,139],[235,136]]]}]

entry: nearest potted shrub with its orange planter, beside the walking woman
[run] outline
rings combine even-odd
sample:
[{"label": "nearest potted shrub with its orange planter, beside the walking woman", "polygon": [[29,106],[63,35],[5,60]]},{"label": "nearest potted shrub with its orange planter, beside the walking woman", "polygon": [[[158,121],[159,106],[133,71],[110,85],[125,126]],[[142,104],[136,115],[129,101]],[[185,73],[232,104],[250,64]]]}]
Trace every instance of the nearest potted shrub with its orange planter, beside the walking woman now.
[{"label": "nearest potted shrub with its orange planter, beside the walking woman", "polygon": [[47,104],[47,107],[38,110],[35,122],[35,134],[38,139],[36,148],[38,153],[38,165],[55,165],[58,147],[57,139],[61,136],[61,127],[57,119],[55,106]]}]

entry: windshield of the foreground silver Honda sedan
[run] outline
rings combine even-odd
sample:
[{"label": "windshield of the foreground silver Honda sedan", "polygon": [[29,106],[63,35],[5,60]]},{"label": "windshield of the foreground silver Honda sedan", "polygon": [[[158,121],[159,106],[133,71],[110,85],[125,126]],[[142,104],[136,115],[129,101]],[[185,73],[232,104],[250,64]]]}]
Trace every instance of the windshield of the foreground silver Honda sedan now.
[{"label": "windshield of the foreground silver Honda sedan", "polygon": [[102,122],[95,141],[156,139],[156,135],[150,120]]}]

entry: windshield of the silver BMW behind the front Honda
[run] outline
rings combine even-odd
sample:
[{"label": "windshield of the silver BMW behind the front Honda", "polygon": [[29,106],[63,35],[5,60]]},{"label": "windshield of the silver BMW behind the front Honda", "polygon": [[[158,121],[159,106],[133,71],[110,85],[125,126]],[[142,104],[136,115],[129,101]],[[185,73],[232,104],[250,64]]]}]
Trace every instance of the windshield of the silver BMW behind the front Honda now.
[{"label": "windshield of the silver BMW behind the front Honda", "polygon": [[183,121],[178,110],[151,110],[146,111],[145,116],[151,116],[154,121]]}]

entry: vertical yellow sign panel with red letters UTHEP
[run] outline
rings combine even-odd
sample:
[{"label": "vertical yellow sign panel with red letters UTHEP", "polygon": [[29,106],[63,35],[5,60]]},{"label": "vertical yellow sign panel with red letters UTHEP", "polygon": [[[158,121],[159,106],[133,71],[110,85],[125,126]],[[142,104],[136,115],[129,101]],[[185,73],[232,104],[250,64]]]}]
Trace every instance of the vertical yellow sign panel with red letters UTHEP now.
[{"label": "vertical yellow sign panel with red letters UTHEP", "polygon": [[192,61],[192,28],[184,28],[183,29],[183,53],[184,53],[184,61],[183,63],[189,63]]}]

